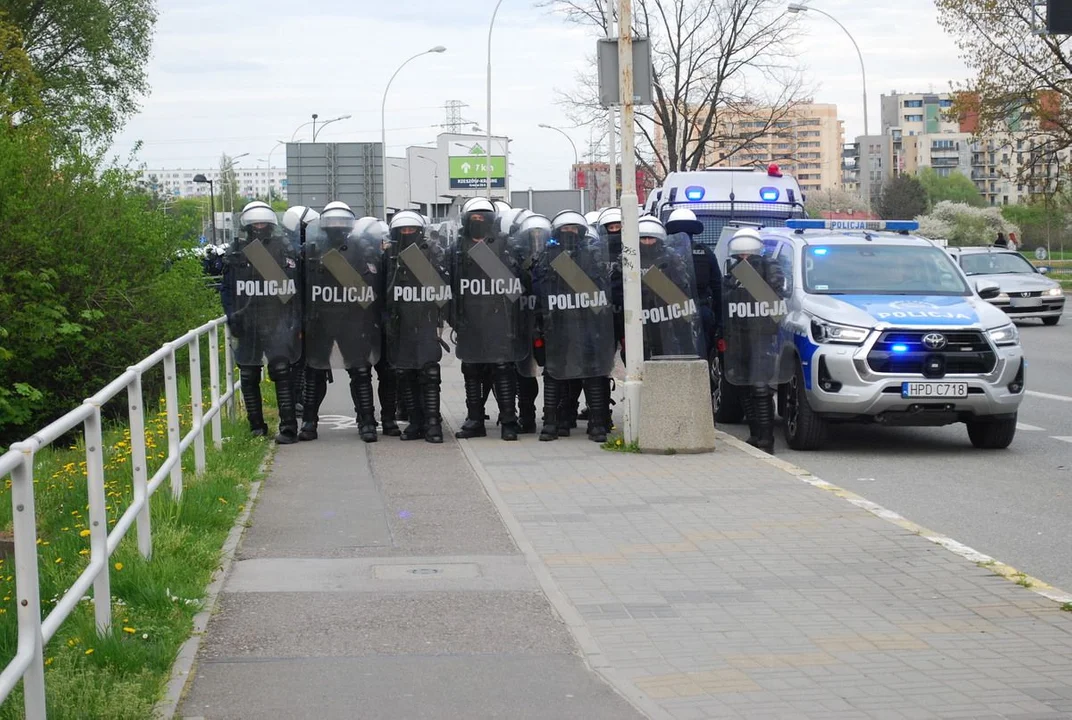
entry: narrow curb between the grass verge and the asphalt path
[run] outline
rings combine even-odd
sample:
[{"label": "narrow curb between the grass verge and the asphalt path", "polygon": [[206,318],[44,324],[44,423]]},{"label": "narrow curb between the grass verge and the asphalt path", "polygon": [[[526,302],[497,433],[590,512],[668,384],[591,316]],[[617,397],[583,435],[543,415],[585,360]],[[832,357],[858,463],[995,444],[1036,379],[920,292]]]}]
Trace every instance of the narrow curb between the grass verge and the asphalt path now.
[{"label": "narrow curb between the grass verge and the asphalt path", "polygon": [[[277,448],[276,442],[271,442],[268,446],[264,462],[257,468],[259,477],[268,477],[268,470],[271,468],[272,461],[276,458]],[[227,534],[227,539],[224,541],[221,550],[220,567],[212,573],[212,581],[206,588],[205,604],[202,611],[194,615],[193,631],[190,638],[179,647],[178,655],[175,656],[175,662],[172,665],[172,676],[168,678],[164,698],[153,708],[153,717],[155,718],[172,720],[179,709],[182,695],[187,690],[190,678],[194,675],[194,666],[197,661],[197,651],[200,649],[202,638],[205,636],[205,629],[208,627],[208,621],[215,614],[219,606],[220,592],[223,590],[224,581],[226,581],[227,575],[230,573],[230,567],[234,565],[235,555],[238,551],[238,543],[241,542],[242,536],[245,534],[245,528],[249,525],[250,515],[253,514],[253,506],[256,504],[263,482],[264,480],[255,480],[250,483],[250,494],[245,499],[245,508],[239,513],[235,520],[235,524],[230,528],[230,532]]]}]

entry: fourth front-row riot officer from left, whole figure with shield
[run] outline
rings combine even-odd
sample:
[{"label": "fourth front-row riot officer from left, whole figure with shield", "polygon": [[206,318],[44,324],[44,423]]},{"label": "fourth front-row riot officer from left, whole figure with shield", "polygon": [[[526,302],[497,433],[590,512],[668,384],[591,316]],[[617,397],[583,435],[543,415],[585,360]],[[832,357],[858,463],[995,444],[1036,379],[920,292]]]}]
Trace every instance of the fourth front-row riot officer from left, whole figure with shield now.
[{"label": "fourth front-row riot officer from left, whole figure with shield", "polygon": [[455,354],[462,362],[465,380],[466,419],[455,434],[459,438],[488,434],[483,380],[491,373],[502,438],[518,439],[515,363],[527,352],[520,303],[524,294],[506,236],[496,231],[497,220],[489,200],[473,198],[462,208],[461,228],[451,249],[451,325],[457,335]]}]

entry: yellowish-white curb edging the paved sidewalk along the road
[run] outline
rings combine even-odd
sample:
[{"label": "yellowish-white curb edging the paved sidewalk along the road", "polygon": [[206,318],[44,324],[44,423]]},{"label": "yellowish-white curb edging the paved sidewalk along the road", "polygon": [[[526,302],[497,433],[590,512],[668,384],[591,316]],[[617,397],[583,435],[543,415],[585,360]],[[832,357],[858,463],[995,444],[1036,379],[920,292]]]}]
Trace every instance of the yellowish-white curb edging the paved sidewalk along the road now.
[{"label": "yellowish-white curb edging the paved sidewalk along the road", "polygon": [[1047,600],[1053,600],[1054,602],[1057,602],[1059,604],[1072,603],[1072,592],[1068,592],[1067,590],[1054,587],[1053,585],[1049,585],[1048,583],[1045,583],[1039,580],[1038,578],[1032,578],[1031,575],[1023,573],[1016,568],[1006,565],[1004,562],[1001,562],[991,557],[989,555],[980,553],[978,550],[974,550],[973,548],[969,548],[964,543],[957,542],[953,538],[941,535],[940,532],[935,532],[934,530],[923,527],[922,525],[918,525],[917,523],[913,523],[912,521],[904,518],[903,515],[894,512],[893,510],[888,510],[887,508],[883,508],[881,505],[878,505],[877,502],[872,502],[867,498],[857,495],[851,491],[845,490],[844,488],[839,488],[835,484],[827,482],[825,480],[822,480],[821,478],[813,475],[810,470],[805,470],[803,467],[799,467],[796,465],[793,465],[792,463],[788,463],[778,458],[774,458],[773,455],[769,455],[761,450],[757,450],[747,442],[732,435],[729,435],[728,433],[725,433],[720,430],[715,430],[715,433],[718,435],[718,439],[720,439],[723,442],[726,442],[727,445],[730,445],[736,448],[738,450],[741,450],[742,452],[751,455],[753,458],[762,460],[766,464],[773,465],[774,467],[785,472],[788,472],[789,475],[793,476],[801,482],[806,482],[807,484],[814,488],[818,488],[819,490],[824,490],[829,493],[833,493],[837,497],[840,497],[844,500],[848,500],[858,508],[863,508],[873,515],[881,518],[882,520],[889,523],[893,523],[897,527],[906,529],[909,532],[912,532],[913,535],[918,535],[926,540],[929,540],[936,545],[941,545],[942,548],[950,551],[954,555],[958,555],[964,559],[974,562],[980,567],[985,567],[994,574],[1000,575],[1006,580],[1016,583],[1017,585],[1021,585],[1026,589],[1036,592],[1037,595],[1041,595]]}]

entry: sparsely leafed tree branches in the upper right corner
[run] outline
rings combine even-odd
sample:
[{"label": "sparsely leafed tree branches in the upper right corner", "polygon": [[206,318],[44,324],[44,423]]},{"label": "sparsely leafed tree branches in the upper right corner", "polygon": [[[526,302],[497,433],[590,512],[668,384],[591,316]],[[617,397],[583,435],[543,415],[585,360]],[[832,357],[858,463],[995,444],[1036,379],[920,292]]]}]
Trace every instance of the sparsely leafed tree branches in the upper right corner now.
[{"label": "sparsely leafed tree branches in the upper right corner", "polygon": [[[1021,182],[1055,192],[1049,166],[1072,148],[1072,38],[1037,32],[1043,18],[1027,0],[936,4],[939,21],[974,75],[956,88],[953,114],[977,119],[980,137],[1006,138],[998,150],[1017,152]],[[1015,148],[1009,147],[1012,136]]]}]

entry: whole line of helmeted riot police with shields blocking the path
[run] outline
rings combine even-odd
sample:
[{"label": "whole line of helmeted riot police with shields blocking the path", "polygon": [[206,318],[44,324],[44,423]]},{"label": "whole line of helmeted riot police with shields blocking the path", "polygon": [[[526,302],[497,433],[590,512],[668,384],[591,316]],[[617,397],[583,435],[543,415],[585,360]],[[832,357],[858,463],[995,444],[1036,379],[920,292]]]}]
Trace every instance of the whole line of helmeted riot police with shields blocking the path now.
[{"label": "whole line of helmeted riot police with shields blocking the path", "polygon": [[[457,224],[432,226],[408,210],[389,225],[359,219],[338,201],[322,213],[291,208],[279,223],[256,201],[243,209],[240,225],[222,295],[255,434],[268,432],[259,389],[265,363],[279,404],[276,439],[292,444],[316,439],[332,360],[341,358],[362,440],[377,439],[375,369],[382,433],[442,442],[441,360],[450,349],[443,340],[449,326],[465,385],[466,418],[457,437],[487,435],[485,407],[494,394],[504,440],[537,431],[540,440],[554,440],[569,435],[579,417],[587,420],[590,439],[607,439],[610,376],[615,355],[625,352],[619,209],[548,219],[473,198]],[[724,296],[740,283],[731,279],[723,292],[720,268],[699,242],[702,230],[687,210],[674,211],[666,225],[640,220],[645,360],[706,358],[719,342]],[[734,254],[731,242],[733,261],[747,255]],[[749,363],[749,355],[734,362]],[[740,370],[727,378],[751,387],[757,374]],[[587,409],[578,414],[582,391]],[[762,417],[762,409],[749,415]],[[749,441],[765,449],[763,431],[753,434]]]}]

